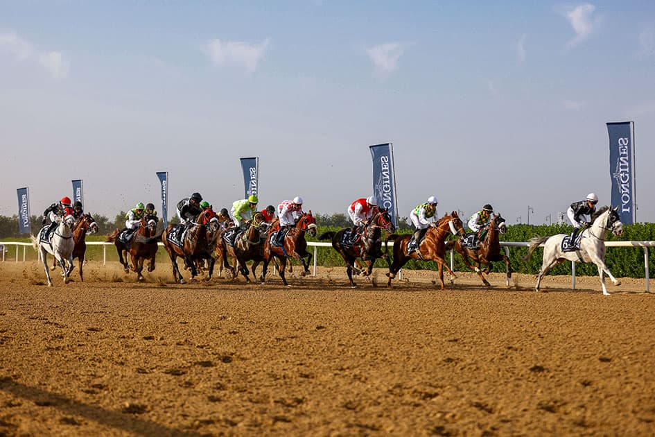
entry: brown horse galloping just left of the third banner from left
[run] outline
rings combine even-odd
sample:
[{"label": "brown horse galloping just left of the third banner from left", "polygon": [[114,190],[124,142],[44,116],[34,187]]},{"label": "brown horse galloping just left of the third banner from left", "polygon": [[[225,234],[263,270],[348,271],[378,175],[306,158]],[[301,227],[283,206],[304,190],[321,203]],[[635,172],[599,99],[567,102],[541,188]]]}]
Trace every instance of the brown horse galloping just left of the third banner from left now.
[{"label": "brown horse galloping just left of the third banner from left", "polygon": [[146,214],[139,222],[139,228],[134,230],[134,235],[129,244],[123,243],[118,239],[121,230],[114,230],[112,234],[107,235],[105,241],[114,242],[116,252],[119,253],[119,262],[123,264],[125,273],[130,273],[128,265],[128,254],[132,259],[132,271],[137,273],[137,280],[143,281],[141,272],[143,271],[143,262],[148,260],[148,271],[155,270],[155,256],[157,255],[157,222],[159,218],[155,214]]}]

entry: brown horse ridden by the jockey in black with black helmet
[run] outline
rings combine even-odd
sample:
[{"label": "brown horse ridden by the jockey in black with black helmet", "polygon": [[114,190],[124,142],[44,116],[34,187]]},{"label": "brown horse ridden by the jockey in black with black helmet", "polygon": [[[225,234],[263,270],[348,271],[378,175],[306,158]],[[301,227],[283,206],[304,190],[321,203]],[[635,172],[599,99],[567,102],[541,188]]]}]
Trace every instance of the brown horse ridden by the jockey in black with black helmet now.
[{"label": "brown horse ridden by the jockey in black with black helmet", "polygon": [[210,228],[209,224],[204,223],[204,216],[207,214],[207,211],[202,211],[200,215],[196,218],[194,223],[191,223],[189,227],[184,231],[182,247],[177,246],[177,244],[172,243],[168,239],[168,234],[174,234],[180,230],[180,227],[185,225],[173,225],[170,224],[161,234],[161,241],[164,243],[164,248],[168,252],[168,257],[171,258],[171,265],[173,266],[173,278],[175,282],[180,284],[186,284],[182,273],[180,273],[180,268],[177,267],[177,257],[184,258],[184,264],[191,268],[191,279],[198,275],[198,269],[195,267],[195,259],[209,259],[209,274],[205,277],[205,280],[209,281],[211,275],[213,274],[213,264],[214,259],[209,253],[209,238],[211,239],[213,230],[213,225]]}]

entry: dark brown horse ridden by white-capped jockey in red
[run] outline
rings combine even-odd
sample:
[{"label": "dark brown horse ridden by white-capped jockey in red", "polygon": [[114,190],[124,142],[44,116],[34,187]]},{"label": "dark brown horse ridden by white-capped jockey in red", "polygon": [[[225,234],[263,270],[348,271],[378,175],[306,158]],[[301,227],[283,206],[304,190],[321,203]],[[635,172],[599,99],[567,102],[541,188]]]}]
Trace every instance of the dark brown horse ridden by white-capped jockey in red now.
[{"label": "dark brown horse ridden by white-capped jockey in red", "polygon": [[[344,228],[337,232],[327,231],[318,237],[320,240],[332,239],[332,247],[339,252],[339,255],[346,262],[346,273],[353,289],[356,288],[355,281],[353,281],[353,271],[369,276],[373,271],[373,264],[378,258],[385,259],[387,265],[391,267],[389,257],[382,252],[382,230],[385,230],[387,234],[396,232],[396,227],[386,209],[378,209],[373,214],[364,225],[363,234],[359,235],[354,243],[350,243],[351,228]],[[346,240],[347,242],[344,243]],[[362,254],[365,254],[365,256],[362,257]],[[355,266],[355,260],[358,257],[362,257],[363,262],[366,264],[367,268],[365,270],[360,270]]]}]

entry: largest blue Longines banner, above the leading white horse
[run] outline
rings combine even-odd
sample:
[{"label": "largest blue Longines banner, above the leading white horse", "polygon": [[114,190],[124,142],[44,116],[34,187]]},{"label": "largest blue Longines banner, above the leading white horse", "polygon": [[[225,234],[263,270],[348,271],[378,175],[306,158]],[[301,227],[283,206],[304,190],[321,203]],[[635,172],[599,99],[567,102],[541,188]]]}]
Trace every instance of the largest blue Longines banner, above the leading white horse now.
[{"label": "largest blue Longines banner, above the leading white horse", "polygon": [[618,206],[621,222],[636,221],[634,182],[634,123],[607,123],[609,133],[609,174],[612,178],[612,205]]}]

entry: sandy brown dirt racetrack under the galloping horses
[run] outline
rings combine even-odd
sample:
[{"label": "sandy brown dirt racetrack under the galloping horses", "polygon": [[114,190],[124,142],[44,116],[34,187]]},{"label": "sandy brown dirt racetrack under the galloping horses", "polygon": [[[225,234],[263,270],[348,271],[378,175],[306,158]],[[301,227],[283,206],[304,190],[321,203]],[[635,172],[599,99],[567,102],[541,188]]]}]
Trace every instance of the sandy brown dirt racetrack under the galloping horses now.
[{"label": "sandy brown dirt racetrack under the galloping horses", "polygon": [[0,436],[655,434],[644,280],[404,273],[139,284],[89,262],[49,288],[1,263]]}]

